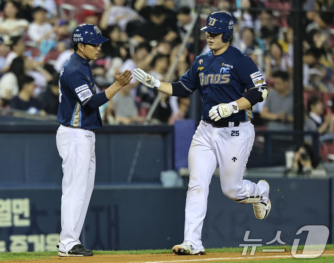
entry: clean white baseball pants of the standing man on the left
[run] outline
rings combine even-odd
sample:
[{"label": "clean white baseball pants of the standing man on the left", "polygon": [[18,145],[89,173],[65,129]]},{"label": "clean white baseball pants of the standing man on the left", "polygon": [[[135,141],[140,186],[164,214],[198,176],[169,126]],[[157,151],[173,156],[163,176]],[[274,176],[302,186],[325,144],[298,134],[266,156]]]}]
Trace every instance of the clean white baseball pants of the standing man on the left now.
[{"label": "clean white baseball pants of the standing man on the left", "polygon": [[59,250],[68,252],[81,244],[95,180],[95,133],[60,125],[56,135],[62,158],[61,233]]}]

